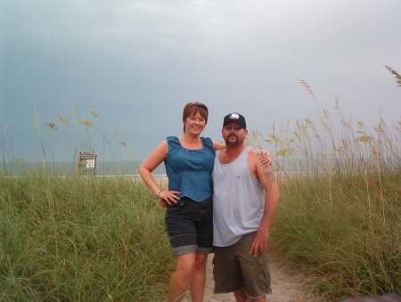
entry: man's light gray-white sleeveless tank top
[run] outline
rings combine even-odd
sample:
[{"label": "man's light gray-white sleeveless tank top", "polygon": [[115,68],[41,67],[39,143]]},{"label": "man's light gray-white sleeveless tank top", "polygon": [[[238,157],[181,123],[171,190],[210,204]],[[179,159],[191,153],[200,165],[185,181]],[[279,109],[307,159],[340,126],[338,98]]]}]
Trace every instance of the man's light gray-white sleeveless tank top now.
[{"label": "man's light gray-white sleeveless tank top", "polygon": [[221,164],[216,151],[213,179],[213,245],[227,247],[244,234],[258,231],[265,207],[265,191],[250,172],[245,147],[229,164]]}]

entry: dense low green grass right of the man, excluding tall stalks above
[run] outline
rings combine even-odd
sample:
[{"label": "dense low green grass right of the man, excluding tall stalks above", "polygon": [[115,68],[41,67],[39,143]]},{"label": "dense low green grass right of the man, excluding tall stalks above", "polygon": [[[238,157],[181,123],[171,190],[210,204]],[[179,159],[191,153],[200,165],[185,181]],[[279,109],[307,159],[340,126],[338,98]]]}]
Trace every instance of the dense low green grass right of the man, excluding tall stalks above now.
[{"label": "dense low green grass right of the man, excluding tall stalks above", "polygon": [[401,294],[401,173],[295,176],[280,184],[270,249],[327,300]]}]

